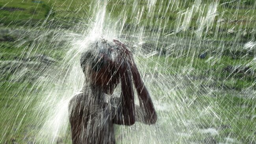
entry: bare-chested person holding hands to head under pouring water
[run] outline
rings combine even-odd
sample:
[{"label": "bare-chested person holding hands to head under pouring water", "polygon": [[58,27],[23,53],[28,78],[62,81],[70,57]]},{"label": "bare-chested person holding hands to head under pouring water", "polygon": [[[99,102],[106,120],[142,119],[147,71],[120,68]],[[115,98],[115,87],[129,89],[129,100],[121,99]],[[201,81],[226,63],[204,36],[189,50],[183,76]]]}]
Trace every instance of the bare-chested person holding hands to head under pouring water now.
[{"label": "bare-chested person holding hands to head under pouring water", "polygon": [[[131,52],[118,40],[100,38],[83,52],[84,86],[69,103],[73,144],[115,144],[113,124],[155,124],[157,114]],[[139,106],[134,103],[133,83]],[[121,82],[121,96],[113,91]]]}]

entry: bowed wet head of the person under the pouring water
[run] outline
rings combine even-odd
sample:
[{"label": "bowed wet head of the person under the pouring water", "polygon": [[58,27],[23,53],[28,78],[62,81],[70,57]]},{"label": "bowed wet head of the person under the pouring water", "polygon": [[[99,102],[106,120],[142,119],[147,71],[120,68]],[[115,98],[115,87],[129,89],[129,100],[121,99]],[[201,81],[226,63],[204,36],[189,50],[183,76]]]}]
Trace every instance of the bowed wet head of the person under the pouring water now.
[{"label": "bowed wet head of the person under the pouring water", "polygon": [[95,88],[112,94],[120,83],[120,47],[115,42],[104,39],[95,41],[91,47],[92,49],[84,52],[80,59],[86,79]]}]

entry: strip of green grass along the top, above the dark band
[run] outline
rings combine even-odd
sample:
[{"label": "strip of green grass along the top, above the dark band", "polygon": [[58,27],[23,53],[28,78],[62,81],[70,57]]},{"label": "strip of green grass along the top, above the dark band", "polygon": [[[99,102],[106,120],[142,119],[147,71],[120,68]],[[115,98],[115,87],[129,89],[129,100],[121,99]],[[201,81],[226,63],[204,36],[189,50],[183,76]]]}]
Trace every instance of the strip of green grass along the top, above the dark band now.
[{"label": "strip of green grass along the top, above the dark band", "polygon": [[[144,25],[147,29],[157,28],[165,29],[166,32],[176,29],[176,21],[178,18],[184,18],[193,7],[207,7],[210,1],[202,0],[202,3],[194,0],[180,1],[161,1],[156,0],[153,9],[149,9],[150,3],[147,0],[136,1],[115,1],[109,0],[107,12],[111,14],[113,19],[118,19],[122,15],[127,15],[126,26],[133,27]],[[232,1],[220,0],[217,7],[217,16],[214,21],[223,19],[222,29],[248,29],[249,31],[255,27],[255,2],[253,0]],[[13,25],[30,25],[36,26],[44,20],[61,21],[61,25],[69,27],[70,20],[74,22],[90,19],[93,14],[94,1],[90,0],[2,0],[0,2],[0,23],[6,26]],[[198,7],[198,8],[199,8]],[[137,10],[143,10],[140,21],[138,22]],[[193,8],[194,9],[194,8]],[[209,8],[210,9],[210,8]],[[238,13],[239,12],[239,13]],[[181,15],[180,15],[181,14]],[[207,11],[196,12],[193,14],[189,29],[198,27],[198,18],[206,16]],[[216,25],[213,25],[212,31]]]}]

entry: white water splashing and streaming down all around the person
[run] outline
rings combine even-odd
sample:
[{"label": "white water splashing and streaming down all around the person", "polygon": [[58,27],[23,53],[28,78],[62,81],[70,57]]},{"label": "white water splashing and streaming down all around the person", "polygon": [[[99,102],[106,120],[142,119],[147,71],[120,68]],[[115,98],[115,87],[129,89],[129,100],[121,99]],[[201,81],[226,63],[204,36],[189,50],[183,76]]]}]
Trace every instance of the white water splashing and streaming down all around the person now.
[{"label": "white water splashing and streaming down all around the person", "polygon": [[[24,50],[0,63],[6,89],[1,94],[8,95],[0,100],[0,143],[71,143],[67,109],[84,82],[80,54],[98,38],[118,39],[130,48],[158,113],[153,126],[116,126],[118,143],[256,142],[256,2],[63,5],[67,11],[73,7],[70,15],[61,8],[54,15],[53,6],[42,23],[8,30]],[[119,93],[117,87],[114,94]]]}]

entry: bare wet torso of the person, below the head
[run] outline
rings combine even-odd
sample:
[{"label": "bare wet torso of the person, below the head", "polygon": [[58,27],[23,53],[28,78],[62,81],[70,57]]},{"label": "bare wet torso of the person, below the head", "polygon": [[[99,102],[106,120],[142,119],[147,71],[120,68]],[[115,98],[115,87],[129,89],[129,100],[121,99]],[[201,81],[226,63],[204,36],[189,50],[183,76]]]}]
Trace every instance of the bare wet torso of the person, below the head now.
[{"label": "bare wet torso of the person, below the head", "polygon": [[109,104],[80,93],[69,104],[73,144],[115,144]]}]

